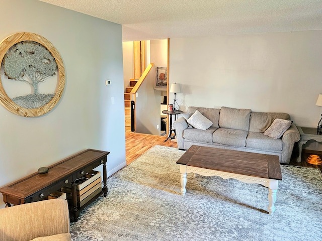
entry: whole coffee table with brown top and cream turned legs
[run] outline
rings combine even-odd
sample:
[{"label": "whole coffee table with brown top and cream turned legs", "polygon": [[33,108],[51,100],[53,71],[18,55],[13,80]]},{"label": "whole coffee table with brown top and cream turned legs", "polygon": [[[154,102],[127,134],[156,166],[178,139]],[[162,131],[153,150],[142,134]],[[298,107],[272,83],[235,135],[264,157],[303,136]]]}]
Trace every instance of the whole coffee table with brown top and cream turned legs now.
[{"label": "whole coffee table with brown top and cream turned legs", "polygon": [[268,210],[270,214],[275,211],[278,180],[282,180],[278,156],[191,146],[177,164],[180,165],[182,195],[186,193],[187,173],[233,178],[268,187]]}]

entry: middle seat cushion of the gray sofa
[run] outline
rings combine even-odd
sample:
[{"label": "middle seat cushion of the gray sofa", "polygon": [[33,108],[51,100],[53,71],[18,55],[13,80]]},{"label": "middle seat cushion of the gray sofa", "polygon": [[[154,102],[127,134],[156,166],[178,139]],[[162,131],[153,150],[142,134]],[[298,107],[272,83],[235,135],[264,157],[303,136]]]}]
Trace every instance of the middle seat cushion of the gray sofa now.
[{"label": "middle seat cushion of the gray sofa", "polygon": [[219,128],[213,133],[212,142],[235,147],[245,147],[248,132],[243,130]]}]

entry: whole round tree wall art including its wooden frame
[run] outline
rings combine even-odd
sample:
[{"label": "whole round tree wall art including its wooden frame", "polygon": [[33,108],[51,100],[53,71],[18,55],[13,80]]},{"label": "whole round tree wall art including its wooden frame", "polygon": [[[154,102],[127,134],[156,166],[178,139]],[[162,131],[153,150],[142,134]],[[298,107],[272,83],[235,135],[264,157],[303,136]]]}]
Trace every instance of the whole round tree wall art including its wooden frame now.
[{"label": "whole round tree wall art including its wooden frame", "polygon": [[33,33],[0,43],[0,101],[11,112],[39,116],[59,101],[65,85],[62,59],[54,46]]}]

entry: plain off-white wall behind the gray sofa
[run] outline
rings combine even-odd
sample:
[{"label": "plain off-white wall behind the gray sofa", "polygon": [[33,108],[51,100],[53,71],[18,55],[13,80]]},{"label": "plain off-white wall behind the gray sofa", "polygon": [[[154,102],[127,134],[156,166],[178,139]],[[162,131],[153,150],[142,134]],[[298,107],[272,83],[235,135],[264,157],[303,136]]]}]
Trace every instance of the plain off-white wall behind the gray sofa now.
[{"label": "plain off-white wall behind the gray sofa", "polygon": [[322,31],[170,40],[169,80],[182,84],[182,110],[287,112],[297,126],[315,128],[322,112],[315,105],[321,66]]}]

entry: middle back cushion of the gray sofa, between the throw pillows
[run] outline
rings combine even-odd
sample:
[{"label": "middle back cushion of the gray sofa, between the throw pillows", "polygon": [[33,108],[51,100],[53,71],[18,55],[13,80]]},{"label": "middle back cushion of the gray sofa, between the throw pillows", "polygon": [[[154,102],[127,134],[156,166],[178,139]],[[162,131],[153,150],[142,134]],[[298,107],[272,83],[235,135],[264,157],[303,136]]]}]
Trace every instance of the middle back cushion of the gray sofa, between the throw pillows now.
[{"label": "middle back cushion of the gray sofa, between the throw pillows", "polygon": [[251,109],[221,107],[219,127],[248,131],[251,111]]}]

